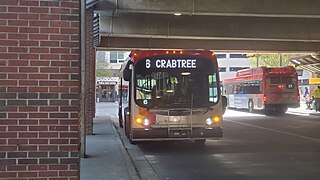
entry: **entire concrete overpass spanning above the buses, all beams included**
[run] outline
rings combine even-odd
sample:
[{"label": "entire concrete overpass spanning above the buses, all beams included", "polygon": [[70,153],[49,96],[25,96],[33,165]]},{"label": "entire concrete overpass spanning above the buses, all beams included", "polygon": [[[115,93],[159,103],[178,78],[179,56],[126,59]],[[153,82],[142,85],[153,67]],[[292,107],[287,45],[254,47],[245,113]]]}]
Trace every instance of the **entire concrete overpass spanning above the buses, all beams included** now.
[{"label": "entire concrete overpass spanning above the buses, all beams included", "polygon": [[103,49],[317,52],[318,7],[318,0],[100,0],[94,9]]}]

